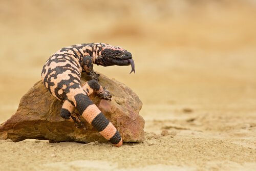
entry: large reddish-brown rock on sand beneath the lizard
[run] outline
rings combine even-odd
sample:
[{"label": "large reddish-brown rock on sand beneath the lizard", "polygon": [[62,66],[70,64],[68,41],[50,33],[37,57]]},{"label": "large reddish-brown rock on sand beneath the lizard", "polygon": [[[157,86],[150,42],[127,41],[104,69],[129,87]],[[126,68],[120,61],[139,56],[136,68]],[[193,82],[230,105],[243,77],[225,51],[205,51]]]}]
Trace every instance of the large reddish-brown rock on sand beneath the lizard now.
[{"label": "large reddish-brown rock on sand beneath the lizard", "polygon": [[[123,83],[102,75],[99,83],[112,94],[112,101],[100,99],[92,94],[91,100],[120,132],[123,142],[144,141],[144,119],[139,115],[142,102]],[[82,74],[82,84],[89,80]],[[45,88],[42,81],[20,99],[16,113],[0,125],[0,139],[14,142],[24,139],[45,139],[50,142],[108,142],[82,117],[86,130],[77,128],[74,122],[60,117],[62,102],[56,100]],[[74,111],[77,113],[77,110]]]}]

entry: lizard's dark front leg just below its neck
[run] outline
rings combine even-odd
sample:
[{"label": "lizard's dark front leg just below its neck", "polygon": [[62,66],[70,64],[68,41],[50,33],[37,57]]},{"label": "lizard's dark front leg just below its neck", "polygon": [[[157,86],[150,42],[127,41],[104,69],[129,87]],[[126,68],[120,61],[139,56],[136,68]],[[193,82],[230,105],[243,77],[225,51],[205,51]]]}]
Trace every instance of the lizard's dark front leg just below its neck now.
[{"label": "lizard's dark front leg just below its neck", "polygon": [[91,56],[84,56],[82,58],[82,68],[91,79],[99,80],[99,74],[93,71],[93,59]]}]

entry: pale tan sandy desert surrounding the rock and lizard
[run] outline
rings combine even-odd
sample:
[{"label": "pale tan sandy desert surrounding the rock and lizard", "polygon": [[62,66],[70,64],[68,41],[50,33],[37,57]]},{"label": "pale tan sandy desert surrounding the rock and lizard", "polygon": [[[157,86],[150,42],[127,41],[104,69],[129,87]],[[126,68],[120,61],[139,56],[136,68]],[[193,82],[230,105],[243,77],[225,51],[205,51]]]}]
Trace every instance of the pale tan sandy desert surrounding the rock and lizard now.
[{"label": "pale tan sandy desert surrounding the rock and lizard", "polygon": [[95,70],[143,102],[145,142],[0,141],[0,170],[255,170],[256,1],[0,1],[0,123],[45,61],[86,42],[131,67]]}]

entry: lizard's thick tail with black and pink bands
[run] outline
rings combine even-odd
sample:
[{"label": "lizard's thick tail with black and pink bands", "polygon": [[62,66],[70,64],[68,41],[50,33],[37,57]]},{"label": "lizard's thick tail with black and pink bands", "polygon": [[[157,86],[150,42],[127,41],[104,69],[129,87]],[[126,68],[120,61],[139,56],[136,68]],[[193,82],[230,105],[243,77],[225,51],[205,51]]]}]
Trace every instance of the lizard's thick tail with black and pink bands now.
[{"label": "lizard's thick tail with black and pink bands", "polygon": [[105,139],[110,140],[115,146],[121,146],[122,138],[116,127],[101,113],[90,98],[82,93],[75,95],[74,98],[76,109],[83,118],[92,124]]}]

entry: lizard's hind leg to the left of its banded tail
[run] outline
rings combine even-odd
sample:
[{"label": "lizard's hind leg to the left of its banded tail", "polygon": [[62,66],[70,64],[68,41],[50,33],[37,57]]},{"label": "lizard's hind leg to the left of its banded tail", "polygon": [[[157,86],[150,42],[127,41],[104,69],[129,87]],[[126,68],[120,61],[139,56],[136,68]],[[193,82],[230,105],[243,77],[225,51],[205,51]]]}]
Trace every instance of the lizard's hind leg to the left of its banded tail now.
[{"label": "lizard's hind leg to the left of its banded tail", "polygon": [[77,127],[84,127],[82,121],[79,119],[79,117],[73,113],[75,106],[71,104],[68,100],[65,100],[61,111],[60,111],[60,116],[63,119],[69,120],[71,122],[75,122]]}]

